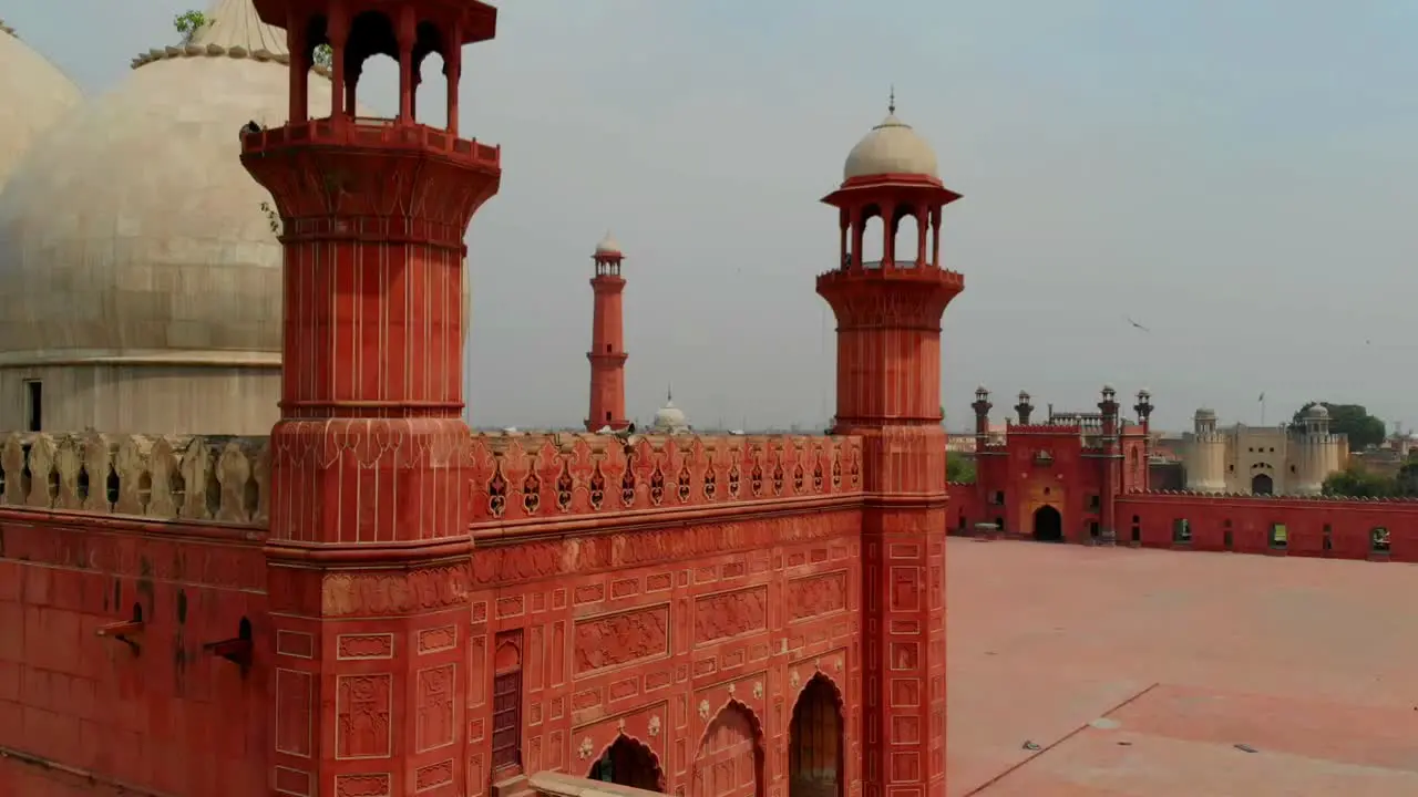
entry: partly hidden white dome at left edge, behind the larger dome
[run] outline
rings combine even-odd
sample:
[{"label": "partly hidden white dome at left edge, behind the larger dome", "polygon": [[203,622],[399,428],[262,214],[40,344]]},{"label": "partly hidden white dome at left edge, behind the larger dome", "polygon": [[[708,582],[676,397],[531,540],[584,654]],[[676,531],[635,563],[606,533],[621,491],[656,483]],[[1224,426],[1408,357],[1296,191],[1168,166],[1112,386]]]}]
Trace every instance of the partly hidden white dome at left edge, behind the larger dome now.
[{"label": "partly hidden white dome at left edge, behind the larger dome", "polygon": [[26,150],[84,95],[0,21],[0,187]]}]

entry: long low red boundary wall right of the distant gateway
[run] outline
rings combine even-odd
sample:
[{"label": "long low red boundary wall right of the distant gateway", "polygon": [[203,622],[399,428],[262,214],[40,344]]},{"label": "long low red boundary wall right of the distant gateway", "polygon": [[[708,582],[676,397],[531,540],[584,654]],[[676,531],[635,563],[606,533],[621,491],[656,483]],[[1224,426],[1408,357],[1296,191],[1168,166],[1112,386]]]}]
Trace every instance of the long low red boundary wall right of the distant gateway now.
[{"label": "long low red boundary wall right of the distant gateway", "polygon": [[[1190,543],[1174,543],[1173,529],[1185,519]],[[1229,522],[1231,546],[1225,533]],[[1269,545],[1272,523],[1282,523],[1286,546]],[[1329,526],[1329,549],[1326,549]],[[1390,532],[1387,554],[1371,549],[1370,532]],[[1418,562],[1418,501],[1337,501],[1320,498],[1255,498],[1187,494],[1146,494],[1117,501],[1117,540],[1150,547],[1235,550],[1273,556],[1327,556]]]}]

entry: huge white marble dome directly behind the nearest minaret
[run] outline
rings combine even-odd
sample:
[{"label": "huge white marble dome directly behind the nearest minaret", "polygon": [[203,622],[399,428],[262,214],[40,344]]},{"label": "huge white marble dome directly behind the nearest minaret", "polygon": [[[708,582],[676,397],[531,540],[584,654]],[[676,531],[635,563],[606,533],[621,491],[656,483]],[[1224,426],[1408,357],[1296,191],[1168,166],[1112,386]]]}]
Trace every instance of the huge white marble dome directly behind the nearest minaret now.
[{"label": "huge white marble dome directly behind the nearest minaret", "polygon": [[[43,380],[45,430],[258,434],[279,416],[282,250],[238,133],[285,123],[289,55],[251,0],[207,18],[135,58],[0,193],[0,394]],[[309,96],[328,116],[329,81]]]}]

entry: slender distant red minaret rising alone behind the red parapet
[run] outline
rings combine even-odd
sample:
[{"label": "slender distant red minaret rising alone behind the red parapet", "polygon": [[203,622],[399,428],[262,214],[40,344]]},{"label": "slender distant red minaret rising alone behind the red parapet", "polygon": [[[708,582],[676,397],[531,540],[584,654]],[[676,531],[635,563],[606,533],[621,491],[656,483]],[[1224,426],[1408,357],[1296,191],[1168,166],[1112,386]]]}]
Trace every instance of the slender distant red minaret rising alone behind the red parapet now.
[{"label": "slender distant red minaret rising alone behind the red parapet", "polygon": [[591,313],[591,411],[586,417],[586,431],[611,427],[621,431],[630,425],[625,417],[625,335],[621,323],[621,294],[625,278],[620,267],[625,255],[610,233],[596,244],[596,275],[591,292],[596,309]]}]

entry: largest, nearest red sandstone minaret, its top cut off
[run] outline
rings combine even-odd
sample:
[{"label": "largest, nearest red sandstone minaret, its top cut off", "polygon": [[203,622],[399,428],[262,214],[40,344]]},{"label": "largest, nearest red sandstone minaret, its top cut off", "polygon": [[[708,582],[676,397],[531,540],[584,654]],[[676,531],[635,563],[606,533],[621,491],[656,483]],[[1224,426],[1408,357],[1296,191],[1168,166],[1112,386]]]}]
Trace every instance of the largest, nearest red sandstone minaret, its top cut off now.
[{"label": "largest, nearest red sandstone minaret, its top cut off", "polygon": [[[450,784],[440,794],[462,793],[467,763],[485,757],[464,720],[467,685],[484,678],[465,658],[464,237],[502,172],[496,146],[458,138],[458,78],[462,47],[495,35],[496,10],[255,4],[291,51],[289,122],[240,132],[285,247],[261,634],[278,706],[272,788],[397,797],[432,773]],[[312,52],[326,44],[330,115],[308,119]],[[448,77],[447,129],[414,118],[430,52]],[[398,115],[356,119],[360,65],[379,54],[398,62]]]}]

